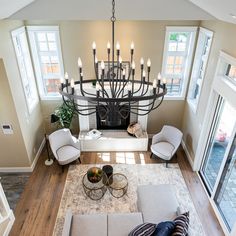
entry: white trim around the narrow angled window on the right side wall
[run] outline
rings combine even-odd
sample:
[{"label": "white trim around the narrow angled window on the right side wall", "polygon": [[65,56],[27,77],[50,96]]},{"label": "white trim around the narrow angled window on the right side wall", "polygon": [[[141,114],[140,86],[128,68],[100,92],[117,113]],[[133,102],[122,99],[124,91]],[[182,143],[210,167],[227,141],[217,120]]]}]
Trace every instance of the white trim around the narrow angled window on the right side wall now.
[{"label": "white trim around the narrow angled window on the right side wall", "polygon": [[195,63],[195,60],[198,60],[197,55],[196,55],[196,52],[197,52],[198,47],[199,47],[198,46],[198,41],[197,41],[197,48],[196,48],[195,56],[194,56],[194,60],[193,60],[192,74],[191,74],[191,77],[190,77],[190,85],[189,85],[189,91],[188,91],[188,97],[187,97],[188,104],[190,105],[190,108],[192,109],[192,111],[194,113],[197,112],[197,109],[199,107],[199,100],[200,100],[201,93],[202,93],[202,87],[203,87],[204,81],[205,81],[206,68],[207,68],[208,61],[209,61],[209,56],[210,56],[210,51],[211,51],[211,46],[212,46],[212,41],[213,41],[213,35],[214,35],[213,31],[210,31],[210,30],[205,29],[203,27],[199,28],[199,33],[200,32],[202,32],[203,34],[205,34],[208,37],[211,37],[211,44],[209,46],[209,51],[208,51],[208,54],[207,54],[207,61],[206,61],[203,76],[202,76],[202,84],[201,84],[201,87],[200,87],[200,92],[199,92],[198,98],[196,99],[196,102],[193,102],[193,99],[190,98],[190,93],[192,93],[192,76],[193,76],[194,63]]}]

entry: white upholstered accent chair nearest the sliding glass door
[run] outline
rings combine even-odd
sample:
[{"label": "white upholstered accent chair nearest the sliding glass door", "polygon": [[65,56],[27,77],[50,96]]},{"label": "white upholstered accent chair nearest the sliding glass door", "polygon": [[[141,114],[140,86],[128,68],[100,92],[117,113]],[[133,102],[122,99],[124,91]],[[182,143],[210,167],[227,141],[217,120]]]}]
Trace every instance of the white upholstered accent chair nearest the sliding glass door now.
[{"label": "white upholstered accent chair nearest the sliding glass door", "polygon": [[154,135],[152,138],[151,157],[154,154],[165,160],[167,167],[168,162],[176,153],[182,137],[183,134],[179,129],[173,126],[164,125],[161,132]]}]

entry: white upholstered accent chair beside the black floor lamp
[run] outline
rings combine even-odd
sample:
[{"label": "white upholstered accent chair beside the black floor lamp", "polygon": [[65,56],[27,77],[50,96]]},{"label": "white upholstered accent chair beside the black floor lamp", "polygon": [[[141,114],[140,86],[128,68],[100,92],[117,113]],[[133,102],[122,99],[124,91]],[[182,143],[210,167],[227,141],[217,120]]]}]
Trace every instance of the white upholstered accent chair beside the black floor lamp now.
[{"label": "white upholstered accent chair beside the black floor lamp", "polygon": [[48,139],[53,155],[60,165],[69,164],[76,159],[81,163],[79,140],[71,135],[69,129],[59,129],[50,134]]}]

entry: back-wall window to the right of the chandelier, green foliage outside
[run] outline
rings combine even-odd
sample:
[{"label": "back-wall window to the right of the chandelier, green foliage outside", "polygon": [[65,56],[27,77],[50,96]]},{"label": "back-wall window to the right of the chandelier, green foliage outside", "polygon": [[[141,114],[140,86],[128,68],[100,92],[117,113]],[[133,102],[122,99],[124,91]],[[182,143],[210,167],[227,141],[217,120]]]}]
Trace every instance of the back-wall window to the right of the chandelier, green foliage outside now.
[{"label": "back-wall window to the right of the chandelier, green foliage outside", "polygon": [[184,99],[197,27],[167,27],[162,76],[167,96]]}]

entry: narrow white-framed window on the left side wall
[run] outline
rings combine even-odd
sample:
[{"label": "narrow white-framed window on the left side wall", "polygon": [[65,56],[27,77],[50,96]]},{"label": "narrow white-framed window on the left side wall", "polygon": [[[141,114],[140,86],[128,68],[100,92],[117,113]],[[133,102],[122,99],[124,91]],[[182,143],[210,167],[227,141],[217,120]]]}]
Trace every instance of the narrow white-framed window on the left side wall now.
[{"label": "narrow white-framed window on the left side wall", "polygon": [[25,100],[30,114],[38,103],[38,94],[25,27],[12,31],[12,40],[17,57]]}]

